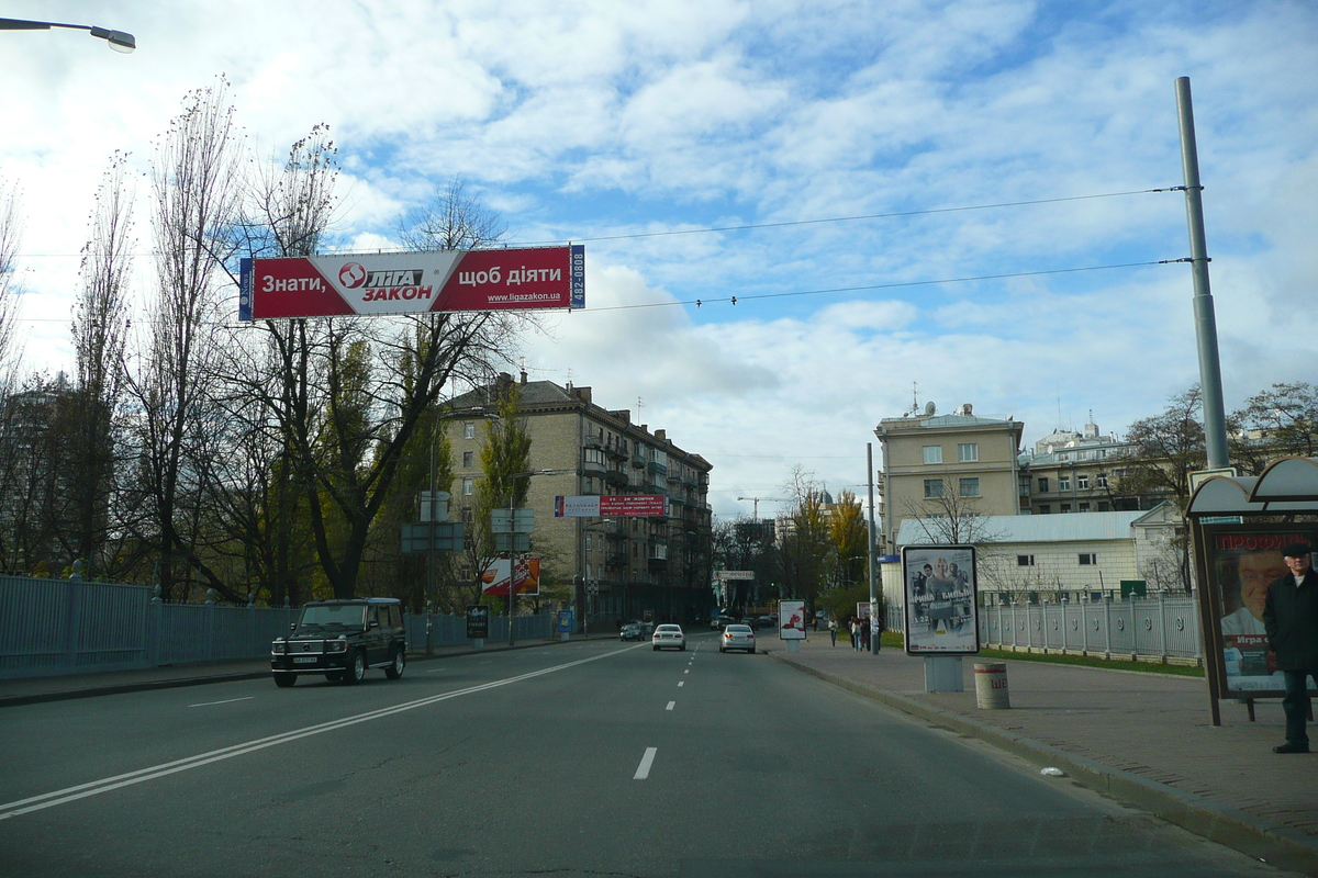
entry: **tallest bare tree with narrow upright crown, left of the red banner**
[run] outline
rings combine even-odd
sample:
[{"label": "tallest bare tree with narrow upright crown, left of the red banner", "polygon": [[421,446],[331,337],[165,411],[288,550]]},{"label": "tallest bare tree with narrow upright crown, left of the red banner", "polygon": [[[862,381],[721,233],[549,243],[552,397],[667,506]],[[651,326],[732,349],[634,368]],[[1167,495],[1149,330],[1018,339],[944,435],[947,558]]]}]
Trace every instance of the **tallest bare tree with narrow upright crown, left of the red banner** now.
[{"label": "tallest bare tree with narrow upright crown, left of the red banner", "polygon": [[[229,600],[240,596],[211,571],[186,536],[204,502],[207,461],[190,442],[212,391],[220,269],[231,254],[239,180],[239,132],[228,83],[190,92],[152,161],[152,225],[157,291],[146,349],[128,383],[137,409],[141,475],[152,525],[142,536],[159,553],[162,596],[174,596],[175,557]],[[187,495],[183,490],[194,488]]]}]

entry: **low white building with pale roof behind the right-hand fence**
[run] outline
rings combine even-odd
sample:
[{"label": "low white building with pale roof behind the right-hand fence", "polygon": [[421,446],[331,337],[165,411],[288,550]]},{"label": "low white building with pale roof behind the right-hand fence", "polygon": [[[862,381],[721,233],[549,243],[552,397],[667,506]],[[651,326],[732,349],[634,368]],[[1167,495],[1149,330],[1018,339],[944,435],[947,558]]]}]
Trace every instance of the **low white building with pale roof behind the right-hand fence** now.
[{"label": "low white building with pale roof behind the right-hand fence", "polygon": [[[1164,504],[1165,505],[1165,504]],[[1162,534],[1174,528],[1164,505],[1145,512],[1086,512],[1082,515],[983,516],[977,581],[981,602],[1024,603],[1078,600],[1099,592],[1120,596],[1122,581],[1148,581],[1147,571],[1165,555]],[[937,523],[908,519],[898,532],[898,548],[937,542]],[[1159,553],[1157,557],[1153,557]],[[1159,584],[1148,582],[1149,594]],[[884,565],[883,592],[890,604],[903,604],[900,563]]]}]

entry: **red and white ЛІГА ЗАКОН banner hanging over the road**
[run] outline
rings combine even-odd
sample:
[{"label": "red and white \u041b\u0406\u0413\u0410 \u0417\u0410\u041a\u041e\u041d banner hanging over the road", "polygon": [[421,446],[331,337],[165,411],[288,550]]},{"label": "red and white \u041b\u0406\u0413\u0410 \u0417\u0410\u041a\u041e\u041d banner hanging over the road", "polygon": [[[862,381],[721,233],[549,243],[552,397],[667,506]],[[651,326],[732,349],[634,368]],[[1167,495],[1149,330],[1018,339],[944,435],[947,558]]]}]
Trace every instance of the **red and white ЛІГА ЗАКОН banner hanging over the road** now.
[{"label": "red and white \u041b\u0406\u0413\u0410 \u0417\u0410\u041a\u041e\u041d banner hanging over the road", "polygon": [[585,308],[585,247],[243,259],[239,320]]}]

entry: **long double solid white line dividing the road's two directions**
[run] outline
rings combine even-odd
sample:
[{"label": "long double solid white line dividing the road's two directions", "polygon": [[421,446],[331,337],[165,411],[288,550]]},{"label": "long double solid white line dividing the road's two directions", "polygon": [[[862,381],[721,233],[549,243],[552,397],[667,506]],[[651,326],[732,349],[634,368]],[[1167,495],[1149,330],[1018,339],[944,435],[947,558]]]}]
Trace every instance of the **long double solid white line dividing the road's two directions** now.
[{"label": "long double solid white line dividing the road's two directions", "polygon": [[269,737],[257,738],[254,741],[246,741],[245,744],[235,744],[232,746],[220,748],[219,750],[210,750],[208,753],[198,753],[196,756],[190,756],[183,760],[165,762],[162,765],[153,765],[148,769],[138,769],[137,771],[128,771],[125,774],[116,774],[115,777],[101,778],[100,781],[92,781],[90,783],[79,783],[78,786],[65,787],[63,790],[55,790],[53,792],[43,792],[41,795],[29,796],[26,799],[18,799],[16,802],[5,802],[0,804],[0,820],[8,820],[9,817],[16,817],[18,815],[29,813],[32,811],[41,811],[42,808],[50,808],[57,804],[76,802],[78,799],[86,799],[88,796],[100,795],[101,792],[109,792],[111,790],[117,790],[119,787],[127,787],[127,786],[133,786],[136,783],[144,783],[146,781],[154,781],[156,778],[162,778],[169,774],[177,774],[179,771],[187,771],[190,769],[199,769],[203,765],[210,765],[211,762],[232,760],[236,756],[253,753],[256,750],[264,750],[266,748],[277,746],[279,744],[289,744],[291,741],[297,741],[304,737],[311,737],[312,735],[320,735],[323,732],[333,732],[341,728],[347,728],[349,725],[357,725],[358,723],[369,723],[370,720],[384,719],[386,716],[393,716],[394,713],[414,711],[418,707],[428,707],[431,704],[438,704],[439,702],[447,702],[451,698],[459,698],[461,695],[472,695],[474,692],[484,692],[485,690],[498,688],[501,686],[507,686],[509,683],[519,683],[525,679],[531,679],[534,677],[554,674],[560,670],[567,670],[568,667],[576,667],[577,665],[585,665],[588,662],[600,661],[601,658],[621,656],[629,649],[634,648],[619,649],[612,653],[602,653],[600,656],[592,656],[590,658],[580,658],[575,662],[555,665],[552,667],[543,667],[538,671],[518,674],[517,677],[506,677],[503,679],[492,681],[489,683],[481,683],[478,686],[469,686],[467,688],[455,690],[452,692],[444,692],[442,695],[431,695],[428,698],[416,699],[415,702],[405,702],[402,704],[395,704],[393,707],[384,707],[377,711],[357,713],[356,716],[345,716],[339,720],[330,720],[328,723],[319,723],[316,725],[308,725],[306,728],[293,729],[291,732],[272,735]]}]

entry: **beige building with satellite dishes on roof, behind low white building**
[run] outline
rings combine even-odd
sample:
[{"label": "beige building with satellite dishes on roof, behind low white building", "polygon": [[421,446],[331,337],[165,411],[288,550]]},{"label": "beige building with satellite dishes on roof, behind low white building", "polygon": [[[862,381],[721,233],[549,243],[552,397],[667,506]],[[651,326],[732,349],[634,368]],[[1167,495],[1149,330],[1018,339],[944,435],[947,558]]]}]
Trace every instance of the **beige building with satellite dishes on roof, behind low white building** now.
[{"label": "beige building with satellite dishes on roof, behind low white building", "polygon": [[895,552],[907,519],[1019,515],[1017,457],[1025,425],[977,417],[969,403],[938,415],[883,419],[874,434],[882,446],[883,553]]}]

